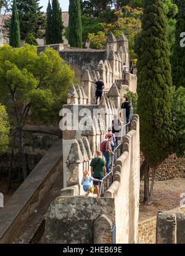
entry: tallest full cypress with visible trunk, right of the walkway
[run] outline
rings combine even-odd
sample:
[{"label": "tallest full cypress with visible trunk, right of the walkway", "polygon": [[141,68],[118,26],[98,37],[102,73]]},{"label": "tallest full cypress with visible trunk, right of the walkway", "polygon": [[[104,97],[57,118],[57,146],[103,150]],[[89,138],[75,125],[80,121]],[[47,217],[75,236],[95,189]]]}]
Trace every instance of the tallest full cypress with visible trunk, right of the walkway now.
[{"label": "tallest full cypress with visible trunk, right of the walkway", "polygon": [[[138,54],[138,114],[141,151],[145,165],[145,198],[152,202],[155,171],[171,152],[172,86],[167,17],[161,0],[144,0],[142,31],[136,40]],[[149,170],[153,178],[149,191]]]}]

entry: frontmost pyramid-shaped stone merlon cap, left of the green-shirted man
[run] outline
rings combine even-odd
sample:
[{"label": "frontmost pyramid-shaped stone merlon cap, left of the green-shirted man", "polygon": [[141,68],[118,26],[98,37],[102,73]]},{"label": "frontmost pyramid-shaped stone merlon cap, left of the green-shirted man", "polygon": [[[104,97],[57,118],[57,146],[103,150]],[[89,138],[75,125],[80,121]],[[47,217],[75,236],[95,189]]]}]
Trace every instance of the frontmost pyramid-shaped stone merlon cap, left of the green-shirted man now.
[{"label": "frontmost pyramid-shaped stone merlon cap, left of the green-shirted man", "polygon": [[67,163],[83,163],[83,156],[81,154],[80,146],[76,139],[73,141],[68,154]]}]

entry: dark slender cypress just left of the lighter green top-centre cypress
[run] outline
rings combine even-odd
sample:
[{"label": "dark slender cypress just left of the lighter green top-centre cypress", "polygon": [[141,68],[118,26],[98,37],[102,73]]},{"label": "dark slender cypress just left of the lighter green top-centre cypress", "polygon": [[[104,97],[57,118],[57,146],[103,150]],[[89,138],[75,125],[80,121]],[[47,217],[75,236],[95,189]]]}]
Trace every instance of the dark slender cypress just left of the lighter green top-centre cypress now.
[{"label": "dark slender cypress just left of the lighter green top-centre cypress", "polygon": [[60,8],[59,0],[52,0],[52,44],[63,43],[62,31],[64,25],[62,22],[62,10]]}]

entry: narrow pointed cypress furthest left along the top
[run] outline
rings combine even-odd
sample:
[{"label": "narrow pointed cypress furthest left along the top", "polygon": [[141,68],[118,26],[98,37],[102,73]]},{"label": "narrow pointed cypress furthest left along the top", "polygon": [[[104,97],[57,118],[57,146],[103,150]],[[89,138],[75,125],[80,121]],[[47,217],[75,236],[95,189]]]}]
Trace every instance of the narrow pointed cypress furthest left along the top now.
[{"label": "narrow pointed cypress furthest left along the top", "polygon": [[14,0],[12,6],[12,17],[10,20],[10,46],[20,47],[20,26],[19,15],[17,13],[17,2]]}]

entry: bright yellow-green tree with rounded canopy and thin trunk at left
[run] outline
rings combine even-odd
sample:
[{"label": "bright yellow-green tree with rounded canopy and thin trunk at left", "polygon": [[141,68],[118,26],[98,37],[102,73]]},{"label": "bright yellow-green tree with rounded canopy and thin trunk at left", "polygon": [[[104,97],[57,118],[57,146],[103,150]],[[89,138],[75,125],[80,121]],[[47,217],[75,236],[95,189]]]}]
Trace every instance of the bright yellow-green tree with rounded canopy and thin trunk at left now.
[{"label": "bright yellow-green tree with rounded canopy and thin trunk at left", "polygon": [[[74,72],[57,51],[47,47],[39,55],[35,46],[0,49],[0,102],[6,105],[10,125],[19,141],[23,178],[27,177],[23,126],[31,116],[43,122],[59,122]],[[13,110],[13,111],[12,111]]]}]

